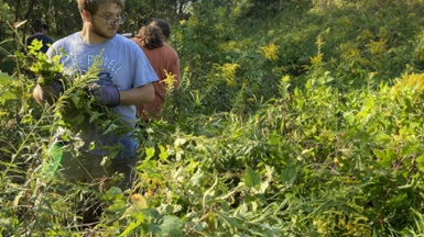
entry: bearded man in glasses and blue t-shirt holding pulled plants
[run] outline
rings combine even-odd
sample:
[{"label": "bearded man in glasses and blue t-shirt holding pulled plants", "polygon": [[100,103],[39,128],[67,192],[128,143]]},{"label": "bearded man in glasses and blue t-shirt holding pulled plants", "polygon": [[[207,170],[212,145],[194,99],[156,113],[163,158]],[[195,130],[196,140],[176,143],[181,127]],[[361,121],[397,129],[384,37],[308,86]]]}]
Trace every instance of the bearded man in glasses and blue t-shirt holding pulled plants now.
[{"label": "bearded man in glasses and blue t-shirt holding pulled plants", "polygon": [[[97,89],[93,94],[99,104],[117,112],[122,121],[133,126],[135,105],[149,103],[154,99],[152,82],[155,82],[157,77],[143,52],[133,42],[117,34],[119,25],[126,20],[121,14],[123,0],[77,2],[84,22],[83,30],[55,42],[47,56],[53,58],[59,55],[64,70],[73,75],[84,75],[101,56]],[[37,83],[33,91],[35,100],[39,103],[50,101],[48,90],[51,88]],[[61,87],[57,87],[56,91],[61,92]],[[87,124],[87,127],[76,134],[84,142],[83,156],[74,157],[64,149],[61,165],[65,177],[90,182],[119,172],[124,173],[119,187],[131,188],[131,171],[137,162],[139,143],[131,134],[105,134],[105,131],[88,121]],[[121,149],[110,157],[107,147],[116,145],[120,145]],[[108,156],[111,158],[111,165],[104,167],[102,158]]]}]

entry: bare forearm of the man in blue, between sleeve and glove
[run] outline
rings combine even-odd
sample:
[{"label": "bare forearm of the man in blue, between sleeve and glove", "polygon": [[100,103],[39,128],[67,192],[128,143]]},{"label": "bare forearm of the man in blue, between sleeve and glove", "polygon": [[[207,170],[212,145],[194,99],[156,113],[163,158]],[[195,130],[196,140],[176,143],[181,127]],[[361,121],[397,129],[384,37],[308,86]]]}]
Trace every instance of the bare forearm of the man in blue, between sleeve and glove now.
[{"label": "bare forearm of the man in blue, between sleeve and glove", "polygon": [[142,87],[132,88],[130,90],[119,91],[121,97],[121,104],[141,105],[150,103],[154,100],[153,83],[146,83]]}]

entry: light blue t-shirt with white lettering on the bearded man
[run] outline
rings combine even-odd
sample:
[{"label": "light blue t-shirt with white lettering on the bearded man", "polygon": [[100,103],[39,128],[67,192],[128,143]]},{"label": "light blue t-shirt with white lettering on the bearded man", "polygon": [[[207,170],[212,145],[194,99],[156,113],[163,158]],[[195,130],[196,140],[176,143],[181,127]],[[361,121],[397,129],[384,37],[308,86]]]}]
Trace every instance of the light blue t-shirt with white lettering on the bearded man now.
[{"label": "light blue t-shirt with white lettering on the bearded man", "polygon": [[[61,48],[65,54],[62,54]],[[50,58],[56,54],[62,55],[59,61],[67,74],[75,74],[76,71],[85,74],[101,56],[99,80],[113,82],[118,90],[129,90],[157,81],[156,74],[140,47],[119,34],[104,43],[88,44],[77,32],[55,42],[47,50]],[[116,111],[123,121],[133,126],[137,113],[135,105],[120,104],[110,108],[110,110]],[[139,143],[131,137],[131,134],[127,136],[105,135],[104,131],[99,131],[94,125],[88,125],[78,136],[85,143],[83,149],[89,150],[89,145],[94,143],[96,148],[90,149],[89,153],[98,156],[107,156],[107,150],[100,147],[120,144],[121,153],[112,158],[132,158],[139,147]]]}]

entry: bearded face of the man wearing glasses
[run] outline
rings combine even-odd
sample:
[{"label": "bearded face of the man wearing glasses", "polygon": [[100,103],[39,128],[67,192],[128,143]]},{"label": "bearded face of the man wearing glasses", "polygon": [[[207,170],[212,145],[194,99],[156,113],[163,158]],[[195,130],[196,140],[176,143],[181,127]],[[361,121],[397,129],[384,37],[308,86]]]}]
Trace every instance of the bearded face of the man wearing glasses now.
[{"label": "bearded face of the man wearing glasses", "polygon": [[104,38],[112,38],[119,29],[122,9],[116,3],[107,3],[91,13],[91,32]]}]

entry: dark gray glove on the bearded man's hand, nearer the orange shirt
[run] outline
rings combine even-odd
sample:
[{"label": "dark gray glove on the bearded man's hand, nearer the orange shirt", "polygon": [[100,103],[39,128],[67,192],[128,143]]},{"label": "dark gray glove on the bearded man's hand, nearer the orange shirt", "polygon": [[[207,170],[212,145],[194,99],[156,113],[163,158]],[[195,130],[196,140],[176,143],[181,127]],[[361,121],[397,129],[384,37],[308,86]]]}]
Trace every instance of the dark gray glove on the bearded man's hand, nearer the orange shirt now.
[{"label": "dark gray glove on the bearded man's hand, nearer the orange shirt", "polygon": [[100,105],[118,106],[121,100],[118,88],[112,82],[97,81],[89,86],[88,91],[95,97],[96,103]]}]

